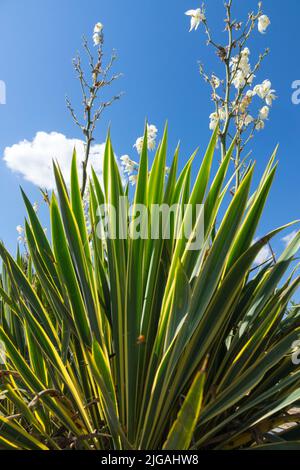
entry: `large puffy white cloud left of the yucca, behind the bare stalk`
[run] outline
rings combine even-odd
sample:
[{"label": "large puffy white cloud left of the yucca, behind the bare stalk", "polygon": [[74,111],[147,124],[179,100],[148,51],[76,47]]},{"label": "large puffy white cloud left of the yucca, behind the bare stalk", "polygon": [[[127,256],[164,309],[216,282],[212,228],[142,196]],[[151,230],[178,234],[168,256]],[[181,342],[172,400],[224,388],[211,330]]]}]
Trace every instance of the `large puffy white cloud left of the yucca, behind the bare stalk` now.
[{"label": "large puffy white cloud left of the yucca, behind the bare stalk", "polygon": [[[98,175],[102,174],[105,144],[91,147],[89,169],[93,166]],[[52,160],[57,160],[66,183],[70,181],[73,149],[76,148],[79,175],[84,156],[84,143],[79,139],[68,139],[58,132],[37,132],[32,141],[23,140],[6,147],[4,161],[8,168],[21,174],[27,181],[46,189],[55,188]]]}]

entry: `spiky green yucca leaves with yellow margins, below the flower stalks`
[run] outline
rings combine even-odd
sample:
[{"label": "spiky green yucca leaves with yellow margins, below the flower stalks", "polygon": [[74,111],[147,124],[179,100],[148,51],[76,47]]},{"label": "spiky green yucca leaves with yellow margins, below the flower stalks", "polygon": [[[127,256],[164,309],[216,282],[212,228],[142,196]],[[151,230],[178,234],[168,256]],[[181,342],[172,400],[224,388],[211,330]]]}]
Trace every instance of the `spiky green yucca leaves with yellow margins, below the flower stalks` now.
[{"label": "spiky green yucca leaves with yellow margins, below the flower stalks", "polygon": [[150,210],[177,203],[184,214],[187,203],[203,204],[204,241],[196,251],[189,249],[194,234],[181,236],[179,213],[168,239],[162,233],[99,238],[104,203],[121,214],[109,211],[111,232],[132,223],[119,205],[120,196],[128,205],[130,197],[110,136],[103,185],[94,172],[90,178],[88,215],[76,155],[70,188],[54,164],[50,241],[23,193],[28,256],[15,260],[0,245],[1,448],[239,449],[300,442],[299,429],[286,440],[270,433],[299,419],[287,411],[300,399],[300,370],[291,358],[300,314],[288,309],[300,282],[289,270],[300,232],[276,263],[254,269],[262,247],[288,226],[253,241],[276,152],[254,191],[251,164],[231,196],[234,143],[211,175],[217,135],[218,128],[192,188],[195,154],[177,176],[176,149],[166,178],[167,131],[150,171],[145,135],[133,196],[133,214],[138,204]]}]

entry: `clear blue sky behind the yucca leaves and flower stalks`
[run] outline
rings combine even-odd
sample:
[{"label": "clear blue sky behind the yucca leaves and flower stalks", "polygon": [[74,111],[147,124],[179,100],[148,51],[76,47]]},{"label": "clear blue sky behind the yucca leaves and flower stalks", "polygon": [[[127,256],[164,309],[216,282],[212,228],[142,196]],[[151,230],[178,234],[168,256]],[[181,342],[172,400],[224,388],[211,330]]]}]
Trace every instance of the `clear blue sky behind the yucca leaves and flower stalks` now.
[{"label": "clear blue sky behind the yucca leaves and flower stalks", "polygon": [[[71,60],[80,48],[82,34],[90,36],[95,22],[105,25],[106,51],[117,50],[115,70],[124,74],[112,91],[125,92],[101,121],[97,143],[103,142],[111,123],[116,153],[136,157],[132,146],[147,117],[160,131],[168,119],[170,150],[181,141],[181,165],[197,146],[204,150],[210,135],[208,115],[213,107],[208,88],[199,76],[197,61],[216,73],[219,65],[214,52],[205,46],[201,27],[197,32],[188,32],[189,19],[184,12],[200,3],[0,1],[0,80],[7,87],[7,104],[0,105],[0,238],[11,250],[16,246],[16,226],[23,223],[25,214],[19,185],[33,201],[40,202],[41,198],[34,185],[6,167],[2,159],[4,149],[24,139],[32,140],[39,131],[80,138],[64,99],[68,94],[74,103],[79,103]],[[207,3],[208,19],[221,40],[223,0]],[[239,5],[236,16],[242,18],[257,4],[252,0],[235,3]],[[300,2],[289,0],[288,8],[283,8],[279,0],[266,0],[264,10],[272,24],[266,35],[256,32],[249,47],[255,57],[270,46],[271,54],[258,74],[258,81],[269,78],[278,100],[266,129],[252,145],[257,161],[256,181],[278,142],[280,166],[260,227],[261,235],[300,216],[300,105],[291,102],[291,84],[300,79],[297,60]],[[195,169],[200,158],[201,151]],[[45,209],[41,213],[46,225]],[[282,248],[283,243],[278,240],[276,252]]]}]

